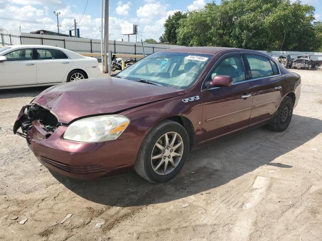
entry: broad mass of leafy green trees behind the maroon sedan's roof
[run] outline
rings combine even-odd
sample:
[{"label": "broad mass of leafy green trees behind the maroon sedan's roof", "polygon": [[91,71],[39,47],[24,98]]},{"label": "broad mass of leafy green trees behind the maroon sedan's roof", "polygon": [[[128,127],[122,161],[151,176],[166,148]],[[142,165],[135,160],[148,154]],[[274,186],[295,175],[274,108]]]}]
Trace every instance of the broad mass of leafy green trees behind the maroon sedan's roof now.
[{"label": "broad mass of leafy green trees behind the maroon sedan's roof", "polygon": [[255,50],[312,49],[314,8],[289,0],[222,0],[189,12],[180,21],[177,44]]}]

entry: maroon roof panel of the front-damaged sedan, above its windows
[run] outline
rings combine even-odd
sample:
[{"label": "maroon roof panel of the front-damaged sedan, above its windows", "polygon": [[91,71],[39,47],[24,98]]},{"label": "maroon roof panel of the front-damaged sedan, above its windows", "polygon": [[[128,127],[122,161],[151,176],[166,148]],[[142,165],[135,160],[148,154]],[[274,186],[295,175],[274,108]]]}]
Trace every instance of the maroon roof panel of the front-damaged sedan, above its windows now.
[{"label": "maroon roof panel of the front-damaged sedan, above its windows", "polygon": [[237,49],[237,48],[227,48],[227,47],[179,47],[162,50],[162,52],[180,52],[180,53],[198,53],[198,54],[212,54],[215,55],[218,52],[250,52],[250,53],[260,53],[267,55],[265,53],[249,50],[249,49]]}]

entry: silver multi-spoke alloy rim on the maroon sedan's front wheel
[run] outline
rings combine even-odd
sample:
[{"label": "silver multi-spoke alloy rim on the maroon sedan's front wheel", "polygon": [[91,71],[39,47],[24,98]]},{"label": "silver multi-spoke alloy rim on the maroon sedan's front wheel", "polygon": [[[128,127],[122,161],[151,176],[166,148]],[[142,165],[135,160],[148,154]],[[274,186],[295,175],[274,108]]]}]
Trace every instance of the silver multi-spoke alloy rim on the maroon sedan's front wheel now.
[{"label": "silver multi-spoke alloy rim on the maroon sedan's front wheel", "polygon": [[179,165],[183,155],[182,137],[176,132],[168,132],[154,144],[151,154],[153,171],[158,175],[167,175]]}]

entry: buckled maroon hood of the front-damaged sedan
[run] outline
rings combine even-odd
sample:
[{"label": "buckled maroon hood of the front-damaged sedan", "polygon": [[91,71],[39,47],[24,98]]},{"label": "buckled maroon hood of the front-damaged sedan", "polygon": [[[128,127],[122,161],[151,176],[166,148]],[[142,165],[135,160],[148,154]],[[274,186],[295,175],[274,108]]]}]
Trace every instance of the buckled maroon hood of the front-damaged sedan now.
[{"label": "buckled maroon hood of the front-damaged sedan", "polygon": [[49,109],[60,123],[68,124],[82,116],[120,112],[185,93],[186,90],[108,76],[52,86],[32,103]]}]

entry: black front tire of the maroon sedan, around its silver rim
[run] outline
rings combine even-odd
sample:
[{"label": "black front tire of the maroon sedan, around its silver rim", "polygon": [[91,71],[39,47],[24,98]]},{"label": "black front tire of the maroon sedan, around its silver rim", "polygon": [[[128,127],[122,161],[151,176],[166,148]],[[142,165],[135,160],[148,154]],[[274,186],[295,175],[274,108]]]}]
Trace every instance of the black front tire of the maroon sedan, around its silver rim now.
[{"label": "black front tire of the maroon sedan, around its silver rim", "polygon": [[[182,145],[183,145],[182,156],[177,166],[170,173],[159,175],[155,171],[156,168],[153,168],[152,166],[152,152],[154,151],[155,145],[158,142],[158,140],[167,133],[179,134],[178,136],[180,136],[180,138],[182,139]],[[162,146],[167,147],[167,145],[162,145]],[[168,152],[171,151],[172,153],[171,148],[165,151],[168,151]],[[165,151],[163,153],[165,153]],[[149,182],[152,182],[152,183],[166,182],[174,178],[180,172],[180,170],[182,169],[183,165],[186,162],[186,159],[188,158],[188,154],[189,154],[189,137],[185,128],[173,121],[168,121],[168,120],[163,121],[163,122],[160,122],[158,125],[156,125],[145,137],[141,145],[141,148],[139,150],[137,160],[134,165],[134,170],[137,172],[138,175],[140,175],[142,178],[146,179]],[[160,155],[162,155],[162,151]],[[165,155],[167,155],[167,153]],[[165,161],[168,161],[168,157],[164,156],[159,159],[159,163],[163,161],[163,158],[165,158]],[[170,162],[169,162],[169,165],[171,165]],[[162,168],[164,168],[164,166],[162,166]]]}]

